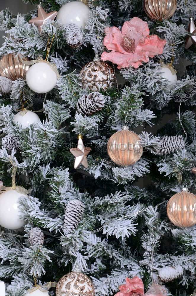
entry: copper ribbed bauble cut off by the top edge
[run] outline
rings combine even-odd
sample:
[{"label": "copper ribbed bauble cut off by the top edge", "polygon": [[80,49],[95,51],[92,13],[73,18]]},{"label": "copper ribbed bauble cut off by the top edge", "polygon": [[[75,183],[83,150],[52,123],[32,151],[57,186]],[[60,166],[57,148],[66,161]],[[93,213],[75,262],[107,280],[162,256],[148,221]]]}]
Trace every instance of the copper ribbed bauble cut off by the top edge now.
[{"label": "copper ribbed bauble cut off by the top edge", "polygon": [[152,20],[169,19],[176,7],[176,0],[144,0],[144,11]]}]

